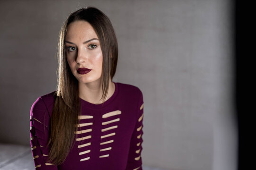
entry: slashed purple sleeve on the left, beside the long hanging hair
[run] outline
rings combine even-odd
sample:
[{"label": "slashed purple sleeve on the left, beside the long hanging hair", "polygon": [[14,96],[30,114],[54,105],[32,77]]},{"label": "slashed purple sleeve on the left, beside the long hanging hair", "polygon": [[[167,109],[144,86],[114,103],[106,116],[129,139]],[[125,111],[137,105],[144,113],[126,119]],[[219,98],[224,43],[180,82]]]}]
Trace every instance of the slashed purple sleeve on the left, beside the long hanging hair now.
[{"label": "slashed purple sleeve on the left, beside the long hanging hair", "polygon": [[50,116],[45,102],[39,97],[30,110],[30,145],[36,170],[58,170],[55,164],[47,163],[49,156]]}]

